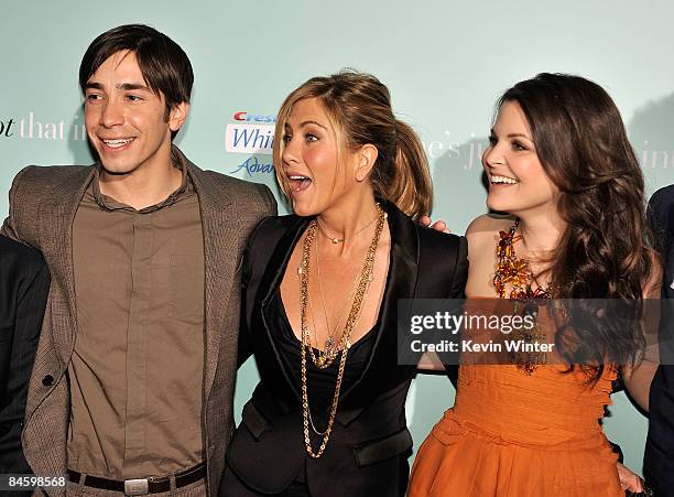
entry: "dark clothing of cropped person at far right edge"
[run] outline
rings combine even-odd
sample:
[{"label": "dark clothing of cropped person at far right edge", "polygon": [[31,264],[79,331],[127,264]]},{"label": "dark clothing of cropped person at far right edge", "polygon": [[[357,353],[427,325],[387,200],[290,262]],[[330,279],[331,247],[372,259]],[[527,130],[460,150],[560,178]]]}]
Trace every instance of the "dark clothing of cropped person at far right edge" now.
[{"label": "dark clothing of cropped person at far right edge", "polygon": [[[654,230],[659,249],[665,262],[663,299],[674,299],[670,287],[674,281],[674,185],[653,194],[649,202],[649,220]],[[672,309],[667,302],[668,309]],[[649,436],[643,462],[643,473],[656,496],[674,496],[674,336],[672,313],[661,323],[661,356],[666,358],[655,372],[649,398]]]}]

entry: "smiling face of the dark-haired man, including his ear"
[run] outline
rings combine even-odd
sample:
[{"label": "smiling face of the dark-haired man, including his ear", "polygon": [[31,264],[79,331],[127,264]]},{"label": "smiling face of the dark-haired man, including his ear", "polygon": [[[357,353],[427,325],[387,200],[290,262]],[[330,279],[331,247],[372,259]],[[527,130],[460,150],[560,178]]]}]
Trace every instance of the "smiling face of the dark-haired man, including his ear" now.
[{"label": "smiling face of the dark-haired man, including his ear", "polygon": [[85,87],[85,127],[110,174],[154,171],[171,165],[171,133],[187,115],[186,102],[166,119],[163,95],[148,87],[135,54],[108,57]]}]

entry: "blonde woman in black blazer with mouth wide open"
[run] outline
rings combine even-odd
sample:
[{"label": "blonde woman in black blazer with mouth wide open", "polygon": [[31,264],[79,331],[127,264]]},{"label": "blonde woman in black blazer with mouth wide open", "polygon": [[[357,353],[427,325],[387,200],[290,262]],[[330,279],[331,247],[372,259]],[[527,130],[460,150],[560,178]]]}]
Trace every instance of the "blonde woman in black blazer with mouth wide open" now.
[{"label": "blonde woman in black blazer with mouth wide open", "polygon": [[294,214],[263,220],[246,252],[240,349],[261,380],[220,495],[402,496],[415,367],[398,365],[398,301],[460,298],[465,239],[415,223],[431,209],[428,168],[373,76],[294,90],[274,164]]}]

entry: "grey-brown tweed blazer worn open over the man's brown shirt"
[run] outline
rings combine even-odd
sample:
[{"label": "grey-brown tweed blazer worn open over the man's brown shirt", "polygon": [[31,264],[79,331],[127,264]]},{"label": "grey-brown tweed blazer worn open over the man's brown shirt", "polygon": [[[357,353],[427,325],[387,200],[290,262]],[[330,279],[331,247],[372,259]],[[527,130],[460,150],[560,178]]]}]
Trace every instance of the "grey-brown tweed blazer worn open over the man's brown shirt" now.
[{"label": "grey-brown tweed blazer worn open over the man's brown shirt", "polygon": [[[175,153],[182,155],[177,148]],[[184,159],[184,155],[182,155]],[[258,222],[275,215],[270,190],[184,159],[199,199],[204,231],[206,360],[204,447],[208,488],[217,495],[225,451],[233,428],[237,371],[240,260]],[[69,420],[67,368],[77,333],[73,273],[73,222],[94,166],[28,166],[12,183],[10,214],[2,234],[44,255],[52,287],[31,375],[22,431],[25,458],[37,476],[66,475]],[[65,495],[63,488],[47,489]]]}]

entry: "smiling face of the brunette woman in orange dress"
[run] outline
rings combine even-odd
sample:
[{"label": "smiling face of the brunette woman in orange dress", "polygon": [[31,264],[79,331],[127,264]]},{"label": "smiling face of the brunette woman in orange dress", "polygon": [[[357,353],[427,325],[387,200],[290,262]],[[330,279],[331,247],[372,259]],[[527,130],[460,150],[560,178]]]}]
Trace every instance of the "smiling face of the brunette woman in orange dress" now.
[{"label": "smiling face of the brunette woman in orange dress", "polygon": [[539,160],[529,122],[517,101],[506,101],[499,109],[489,143],[482,166],[489,177],[490,209],[522,217],[556,208],[559,191]]}]

